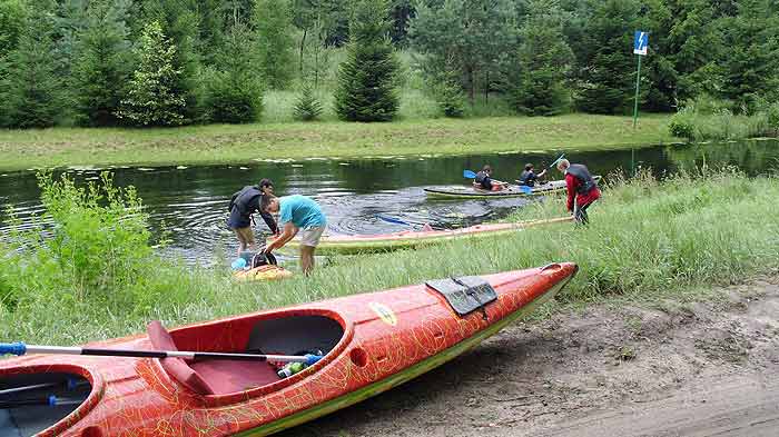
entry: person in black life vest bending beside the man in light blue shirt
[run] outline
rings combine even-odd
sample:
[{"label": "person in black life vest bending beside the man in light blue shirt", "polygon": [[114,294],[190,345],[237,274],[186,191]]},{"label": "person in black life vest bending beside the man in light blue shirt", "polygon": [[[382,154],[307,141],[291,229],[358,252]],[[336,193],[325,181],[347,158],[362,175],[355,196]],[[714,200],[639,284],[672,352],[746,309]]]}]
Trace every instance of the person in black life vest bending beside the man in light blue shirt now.
[{"label": "person in black life vest bending beside the man in light blue shirt", "polygon": [[227,219],[227,226],[238,237],[238,256],[249,248],[255,250],[254,231],[252,230],[252,215],[254,212],[259,211],[259,216],[263,217],[270,231],[278,235],[276,220],[270,213],[259,208],[263,196],[273,196],[270,179],[263,179],[255,186],[246,186],[230,198],[228,207],[230,217]]}]

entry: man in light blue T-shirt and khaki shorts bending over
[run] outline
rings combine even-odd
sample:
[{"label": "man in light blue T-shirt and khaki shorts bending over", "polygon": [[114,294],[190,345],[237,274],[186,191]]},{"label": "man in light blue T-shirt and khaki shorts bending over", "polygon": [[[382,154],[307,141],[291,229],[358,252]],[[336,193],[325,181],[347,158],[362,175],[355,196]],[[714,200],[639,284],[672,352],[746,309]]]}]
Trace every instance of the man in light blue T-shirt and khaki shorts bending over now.
[{"label": "man in light blue T-shirt and khaki shorts bending over", "polygon": [[283,226],[282,235],[276,237],[263,250],[265,254],[284,247],[300,231],[300,270],[307,276],[314,270],[314,251],[325,231],[327,219],[319,203],[313,199],[295,195],[285,197],[264,196],[260,209],[265,212],[278,212],[278,224]]}]

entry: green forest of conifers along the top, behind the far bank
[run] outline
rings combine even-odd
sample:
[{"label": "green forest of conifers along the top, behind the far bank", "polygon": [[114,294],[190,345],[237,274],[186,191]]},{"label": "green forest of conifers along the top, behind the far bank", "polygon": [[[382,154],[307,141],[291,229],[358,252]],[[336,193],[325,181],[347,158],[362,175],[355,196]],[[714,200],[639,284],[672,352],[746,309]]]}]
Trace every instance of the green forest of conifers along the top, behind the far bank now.
[{"label": "green forest of conifers along the top, behind the far bank", "polygon": [[0,0],[0,126],[625,115],[635,30],[642,111],[779,118],[770,0]]}]

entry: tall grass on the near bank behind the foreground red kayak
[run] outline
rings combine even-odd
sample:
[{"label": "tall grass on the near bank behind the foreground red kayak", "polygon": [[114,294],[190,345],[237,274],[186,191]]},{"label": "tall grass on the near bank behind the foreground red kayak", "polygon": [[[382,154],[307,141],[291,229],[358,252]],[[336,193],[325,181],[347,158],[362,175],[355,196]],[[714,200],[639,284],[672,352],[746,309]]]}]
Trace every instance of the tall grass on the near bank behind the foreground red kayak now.
[{"label": "tall grass on the near bank behind the foreground red kayak", "polygon": [[[578,262],[581,271],[561,295],[563,302],[676,294],[779,267],[779,222],[767,219],[775,213],[778,196],[776,179],[734,172],[682,176],[662,185],[639,177],[609,187],[591,208],[592,224],[585,229],[564,224],[415,251],[333,258],[308,279],[268,284],[237,285],[227,268],[188,270],[152,256],[137,259],[132,254],[140,249],[132,240],[136,249],[125,255],[116,249],[110,249],[112,257],[91,251],[96,256],[88,271],[105,275],[85,289],[82,278],[70,277],[78,266],[63,257],[67,251],[46,252],[53,257],[51,262],[40,257],[8,262],[10,254],[0,251],[7,260],[0,265],[0,296],[6,296],[0,337],[78,344],[142,331],[149,319],[176,326],[430,278],[564,260]],[[559,216],[563,209],[562,199],[552,198],[516,218]],[[76,227],[73,235],[102,247],[95,232],[70,226]],[[73,239],[63,241],[72,245]],[[491,256],[473,256],[486,252]],[[47,270],[38,271],[41,262]],[[132,268],[131,275],[122,268]],[[8,296],[13,296],[13,306]]]}]

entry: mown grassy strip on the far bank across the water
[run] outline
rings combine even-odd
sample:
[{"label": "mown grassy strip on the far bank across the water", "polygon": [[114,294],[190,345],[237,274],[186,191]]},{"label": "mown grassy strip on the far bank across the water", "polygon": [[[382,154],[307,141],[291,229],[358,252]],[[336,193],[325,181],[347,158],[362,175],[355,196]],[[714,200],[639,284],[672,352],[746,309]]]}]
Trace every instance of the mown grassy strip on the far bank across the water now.
[{"label": "mown grassy strip on the far bank across the water", "polygon": [[193,126],[171,129],[0,131],[0,169],[247,162],[309,157],[367,158],[500,151],[612,149],[673,140],[668,116],[569,115]]}]

